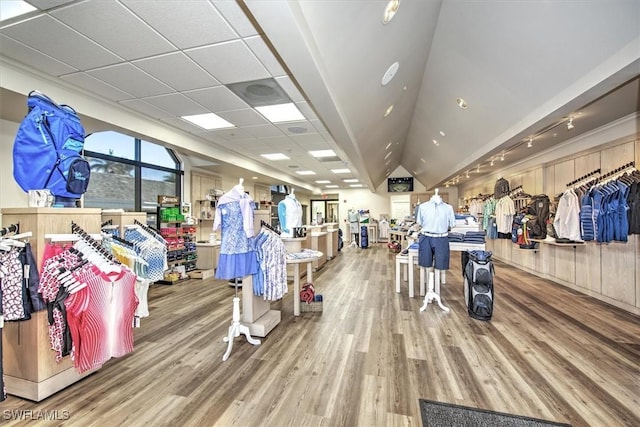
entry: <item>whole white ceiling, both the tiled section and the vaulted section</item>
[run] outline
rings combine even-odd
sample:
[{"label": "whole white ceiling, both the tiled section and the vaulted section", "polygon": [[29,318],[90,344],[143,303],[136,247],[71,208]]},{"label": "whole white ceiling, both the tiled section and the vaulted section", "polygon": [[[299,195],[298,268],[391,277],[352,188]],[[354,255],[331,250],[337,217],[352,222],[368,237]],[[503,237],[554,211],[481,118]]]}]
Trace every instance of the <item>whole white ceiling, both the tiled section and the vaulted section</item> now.
[{"label": "whole white ceiling, both the tiled section and the vaulted section", "polygon": [[[308,191],[348,178],[375,191],[398,167],[427,188],[463,182],[640,110],[636,0],[401,0],[386,24],[379,0],[29,3],[39,10],[0,23],[5,72],[172,129],[184,138],[160,141],[202,169]],[[273,124],[230,89],[259,79],[305,119]],[[0,113],[21,117],[9,80]],[[236,127],[181,119],[209,112]],[[109,128],[100,109],[80,113]],[[336,157],[308,153],[327,149]],[[261,156],[278,152],[289,159]]]}]

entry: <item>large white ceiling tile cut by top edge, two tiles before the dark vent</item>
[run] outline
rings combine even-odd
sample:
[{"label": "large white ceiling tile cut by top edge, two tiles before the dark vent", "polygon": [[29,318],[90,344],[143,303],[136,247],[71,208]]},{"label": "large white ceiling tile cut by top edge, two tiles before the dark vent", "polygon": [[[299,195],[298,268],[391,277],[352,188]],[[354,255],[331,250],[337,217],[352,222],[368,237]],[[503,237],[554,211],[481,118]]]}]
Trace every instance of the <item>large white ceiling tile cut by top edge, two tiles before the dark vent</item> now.
[{"label": "large white ceiling tile cut by top edge, two tiles before the dark vent", "polygon": [[207,1],[189,1],[187,7],[184,0],[123,3],[180,49],[236,38],[233,29]]}]

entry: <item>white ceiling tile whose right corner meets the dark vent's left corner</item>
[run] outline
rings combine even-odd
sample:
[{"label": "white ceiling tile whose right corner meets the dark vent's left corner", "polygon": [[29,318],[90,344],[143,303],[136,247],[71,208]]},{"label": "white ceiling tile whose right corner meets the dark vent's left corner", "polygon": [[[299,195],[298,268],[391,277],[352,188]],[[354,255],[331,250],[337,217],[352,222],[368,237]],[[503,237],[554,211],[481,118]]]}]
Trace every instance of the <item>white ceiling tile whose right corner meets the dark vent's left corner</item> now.
[{"label": "white ceiling tile whose right corner meets the dark vent's left corner", "polygon": [[154,56],[153,58],[141,59],[133,63],[178,91],[200,89],[220,84],[182,52]]}]

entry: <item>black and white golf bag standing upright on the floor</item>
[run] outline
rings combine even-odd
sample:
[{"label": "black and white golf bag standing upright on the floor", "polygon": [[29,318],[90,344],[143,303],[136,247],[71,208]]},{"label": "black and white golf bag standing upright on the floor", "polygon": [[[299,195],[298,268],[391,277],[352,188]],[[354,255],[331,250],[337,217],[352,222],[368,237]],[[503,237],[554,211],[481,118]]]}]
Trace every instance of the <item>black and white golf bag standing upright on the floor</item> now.
[{"label": "black and white golf bag standing upright on the floor", "polygon": [[469,316],[478,320],[491,320],[494,301],[491,252],[463,252],[462,265],[464,300]]}]

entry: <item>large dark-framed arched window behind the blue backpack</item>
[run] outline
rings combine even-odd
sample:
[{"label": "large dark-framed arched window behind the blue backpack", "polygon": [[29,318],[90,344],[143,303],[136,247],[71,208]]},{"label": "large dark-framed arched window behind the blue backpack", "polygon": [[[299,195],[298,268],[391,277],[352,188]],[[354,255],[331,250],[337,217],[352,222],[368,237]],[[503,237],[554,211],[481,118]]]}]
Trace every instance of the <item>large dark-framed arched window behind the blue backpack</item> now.
[{"label": "large dark-framed arched window behind the blue backpack", "polygon": [[112,131],[89,135],[84,148],[91,164],[87,208],[155,214],[158,195],[181,195],[183,172],[167,148]]}]

